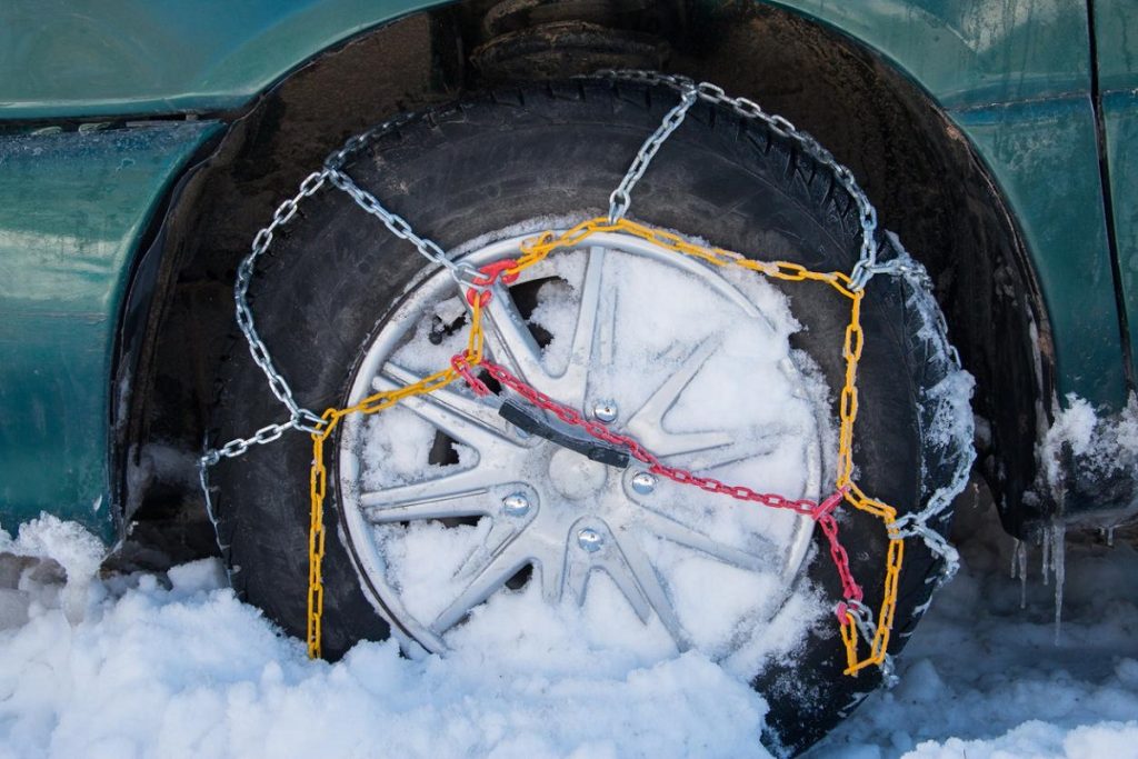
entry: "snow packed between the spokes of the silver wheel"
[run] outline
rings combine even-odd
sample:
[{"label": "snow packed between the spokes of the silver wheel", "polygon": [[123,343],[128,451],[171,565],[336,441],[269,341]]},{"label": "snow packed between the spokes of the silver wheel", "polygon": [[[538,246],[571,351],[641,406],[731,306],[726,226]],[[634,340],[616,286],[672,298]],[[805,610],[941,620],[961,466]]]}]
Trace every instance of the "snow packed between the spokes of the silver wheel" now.
[{"label": "snow packed between the spokes of the silver wheel", "polygon": [[[509,239],[504,232],[501,237]],[[728,482],[761,484],[764,490],[787,497],[819,498],[832,492],[836,431],[831,420],[828,390],[813,360],[790,346],[791,336],[801,325],[793,317],[786,296],[751,272],[716,270],[671,254],[666,255],[668,263],[661,263],[643,254],[609,249],[600,264],[603,286],[597,295],[597,325],[595,343],[589,348],[593,355],[587,388],[544,383],[542,380],[555,381],[568,376],[571,363],[583,361],[571,354],[578,339],[575,332],[585,297],[586,271],[594,265],[588,263],[593,261],[591,250],[585,247],[556,253],[528,269],[519,280],[520,284],[538,283],[533,310],[519,317],[550,336],[539,356],[542,369],[528,369],[529,380],[554,396],[560,387],[561,393],[579,391],[587,403],[597,398],[615,402],[621,410],[615,429],[636,435],[636,410],[645,405],[657,388],[693,362],[698,371],[681,388],[674,405],[662,419],[646,419],[646,424],[658,424],[677,436],[726,432],[731,443],[703,445],[691,453],[682,453],[686,449],[681,447],[681,453],[671,456],[661,452],[668,463],[708,472]],[[693,274],[693,266],[698,274]],[[427,374],[445,366],[464,347],[467,329],[457,322],[464,311],[451,295],[453,286],[445,274],[438,279],[439,297],[431,289],[435,284],[424,281],[422,289],[404,302],[397,319],[389,322],[386,329],[397,335],[397,339],[388,341],[382,332],[376,338],[376,345],[391,346],[389,354],[381,355],[387,371],[390,369],[386,362],[390,361],[403,370]],[[423,292],[427,295],[419,295]],[[501,294],[496,298],[509,296]],[[440,333],[440,324],[455,323],[461,328],[450,335]],[[619,340],[616,340],[612,330],[618,325]],[[488,350],[496,360],[508,362],[504,352],[495,353],[498,348],[495,340],[495,332],[489,330]],[[834,350],[839,349],[835,345]],[[364,366],[368,365],[365,362]],[[542,377],[534,377],[538,371]],[[748,381],[736,381],[740,377]],[[389,381],[381,373],[368,389],[384,389]],[[761,393],[754,388],[761,388]],[[472,401],[464,388],[455,391]],[[966,405],[965,397],[965,409]],[[955,420],[946,418],[946,421]],[[457,462],[428,462],[436,429],[453,436]],[[353,439],[352,432],[346,435],[349,440],[346,446],[358,462],[358,470],[353,471],[358,479],[353,478],[345,489],[366,493],[445,481],[475,469],[493,470],[494,481],[505,488],[503,494],[519,488],[528,492],[528,484],[551,481],[553,488],[537,497],[538,509],[572,510],[580,515],[589,513],[589,509],[604,513],[596,504],[620,487],[618,476],[607,473],[600,464],[580,459],[582,468],[600,471],[577,471],[559,478],[554,471],[560,461],[556,456],[549,462],[528,454],[514,456],[501,446],[484,455],[477,444],[457,443],[463,434],[461,429],[436,428],[413,407],[396,407],[369,418],[357,439]],[[473,443],[477,437],[470,440]],[[596,482],[592,481],[592,475],[596,475]],[[588,494],[572,495],[567,485],[595,489],[595,503],[586,505],[583,498]],[[619,497],[624,500],[622,495]],[[667,481],[658,485],[655,497],[663,504],[660,512],[670,520],[698,528],[717,544],[749,550],[767,564],[761,571],[744,571],[690,546],[648,536],[640,546],[667,586],[687,640],[737,678],[749,679],[766,661],[791,651],[813,625],[832,622],[830,610],[815,588],[803,581],[787,593],[785,568],[767,558],[786,554],[797,555],[798,561],[802,559],[801,553],[777,550],[800,535],[802,518],[741,505],[721,495]],[[478,490],[467,501],[485,508],[483,503],[493,498]],[[382,568],[382,581],[374,585],[380,588],[384,605],[427,627],[461,595],[477,568],[488,561],[483,546],[497,545],[492,530],[511,529],[511,523],[510,517],[500,517],[496,511],[473,525],[442,520],[382,523],[365,530],[362,539],[353,531],[353,542],[355,545],[370,542],[376,546],[377,560],[365,566]],[[556,533],[551,539],[564,541],[562,536],[569,534],[568,525],[564,527],[560,533],[549,530],[546,535]],[[501,539],[497,537],[498,543]],[[552,567],[556,562],[549,563]],[[571,569],[570,566],[566,570],[567,576]],[[790,576],[795,574],[793,569],[797,567]],[[541,579],[542,571],[538,564],[533,577]],[[567,661],[604,658],[649,667],[676,655],[673,634],[655,616],[641,621],[605,571],[592,571],[587,577],[585,603],[576,597],[577,593],[567,592],[552,611],[549,600],[530,587],[538,585],[537,581],[519,591],[497,591],[489,603],[479,607],[462,625],[446,630],[443,641],[452,647],[485,649],[490,642],[496,643],[504,630],[517,641],[516,645],[527,646],[534,636],[519,630],[541,628],[543,633],[535,645],[545,650],[555,642]],[[558,625],[560,632],[555,629]],[[635,635],[629,630],[635,630]]]}]

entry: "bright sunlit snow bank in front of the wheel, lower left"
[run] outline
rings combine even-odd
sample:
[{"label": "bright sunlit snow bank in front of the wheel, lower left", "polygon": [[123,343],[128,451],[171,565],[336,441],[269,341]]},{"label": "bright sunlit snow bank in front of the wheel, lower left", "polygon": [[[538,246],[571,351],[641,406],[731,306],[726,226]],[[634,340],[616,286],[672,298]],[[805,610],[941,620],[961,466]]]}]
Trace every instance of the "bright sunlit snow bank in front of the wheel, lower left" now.
[{"label": "bright sunlit snow bank in front of the wheel, lower left", "polygon": [[388,642],[311,662],[223,581],[213,560],[110,577],[74,626],[36,584],[0,633],[0,757],[764,756],[765,704],[699,654],[411,661]]}]

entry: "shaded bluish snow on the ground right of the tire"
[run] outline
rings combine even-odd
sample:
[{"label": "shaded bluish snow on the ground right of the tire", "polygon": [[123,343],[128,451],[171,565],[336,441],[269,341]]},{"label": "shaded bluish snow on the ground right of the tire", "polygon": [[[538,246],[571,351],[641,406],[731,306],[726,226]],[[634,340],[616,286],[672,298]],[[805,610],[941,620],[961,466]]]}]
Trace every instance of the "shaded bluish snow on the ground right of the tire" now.
[{"label": "shaded bluish snow on the ground right of the tire", "polygon": [[934,596],[900,661],[900,684],[867,699],[811,753],[877,759],[1138,757],[1138,551],[1069,535],[1055,642],[1042,551],[1025,603],[995,514],[958,513],[960,575]]}]

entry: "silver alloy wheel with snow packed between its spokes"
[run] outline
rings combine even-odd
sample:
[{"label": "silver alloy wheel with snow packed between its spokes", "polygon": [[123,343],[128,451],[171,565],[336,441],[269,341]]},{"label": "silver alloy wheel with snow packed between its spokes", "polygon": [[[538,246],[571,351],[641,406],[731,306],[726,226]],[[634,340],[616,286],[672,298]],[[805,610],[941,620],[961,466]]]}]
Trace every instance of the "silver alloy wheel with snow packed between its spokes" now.
[{"label": "silver alloy wheel with snow packed between its spokes", "polygon": [[[462,261],[481,266],[516,257],[526,237],[487,245]],[[712,330],[700,337],[698,324],[671,324],[674,308],[659,304],[645,315],[652,332],[677,338],[666,355],[650,356],[637,370],[643,376],[635,378],[635,387],[629,385],[629,370],[641,366],[644,356],[640,364],[622,358],[632,338],[626,340],[627,322],[619,319],[621,304],[653,297],[643,290],[661,277],[688,288],[684,304],[726,315],[739,330],[749,330],[756,345],[780,341],[766,312],[785,302],[768,283],[754,277],[728,279],[723,270],[609,233],[551,256],[509,289],[495,287],[487,310],[490,357],[543,393],[633,435],[666,463],[758,489],[762,477],[774,476],[784,487],[770,489],[782,495],[819,497],[823,440],[828,439],[825,390],[818,390],[813,372],[800,368],[809,358],[794,354],[791,360],[785,336],[781,352],[766,360],[773,364],[768,373],[732,388],[711,387],[708,368],[720,353],[721,335]],[[526,314],[516,296],[527,286],[531,296],[535,284],[561,288],[562,300],[576,310],[572,319],[551,317],[546,329],[533,308]],[[446,365],[465,331],[454,282],[442,272],[421,278],[368,346],[348,403]],[[757,360],[761,363],[762,356]],[[756,381],[785,382],[801,402],[797,416],[780,409],[750,426],[745,419],[724,429],[691,422],[693,403],[694,416],[700,416],[701,394],[714,393],[717,403],[731,404],[733,393],[742,394],[740,399],[761,393]],[[737,645],[737,629],[693,634],[703,622],[685,612],[677,588],[721,581],[709,567],[727,567],[732,577],[753,576],[758,584],[751,589],[759,589],[752,594],[764,597],[724,624],[736,628],[745,622],[749,635],[761,636],[803,574],[814,529],[809,519],[660,481],[635,461],[624,471],[589,461],[504,421],[497,414],[504,395],[476,398],[451,386],[412,398],[402,410],[345,420],[339,451],[344,526],[362,584],[396,630],[442,652],[448,649],[448,633],[495,594],[518,593],[531,578],[547,603],[579,607],[591,578],[603,572],[636,617],[662,625],[678,649],[710,647],[721,657],[726,651],[715,650],[716,642]],[[686,424],[674,421],[681,409]],[[794,416],[793,424],[773,421],[787,416]],[[403,445],[409,437],[415,442]],[[432,463],[440,442],[451,460]],[[731,515],[727,523],[715,521],[721,514]],[[415,551],[421,558],[424,539],[432,553],[410,566]],[[412,542],[419,547],[409,548]],[[673,561],[661,544],[698,560]],[[432,579],[409,580],[431,568]],[[687,575],[675,576],[681,571]],[[429,601],[420,597],[428,595]]]}]

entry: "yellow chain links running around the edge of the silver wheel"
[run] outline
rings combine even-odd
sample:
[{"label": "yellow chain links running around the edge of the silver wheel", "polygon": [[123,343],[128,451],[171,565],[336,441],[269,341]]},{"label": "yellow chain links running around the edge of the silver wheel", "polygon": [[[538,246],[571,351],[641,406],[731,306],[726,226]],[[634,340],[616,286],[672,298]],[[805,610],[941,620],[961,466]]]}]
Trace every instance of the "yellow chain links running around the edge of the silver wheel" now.
[{"label": "yellow chain links running around the edge of the silver wheel", "polygon": [[[622,232],[652,242],[661,248],[685,256],[704,261],[716,266],[739,266],[758,272],[772,279],[787,282],[817,281],[830,284],[841,295],[850,299],[850,321],[846,327],[846,338],[842,345],[842,357],[846,360],[844,385],[839,399],[841,424],[838,436],[838,489],[848,488],[846,501],[855,509],[877,517],[884,522],[889,534],[889,550],[885,556],[885,581],[883,599],[877,613],[877,627],[869,652],[865,659],[858,659],[857,627],[853,614],[847,612],[846,622],[840,626],[842,642],[846,646],[847,675],[856,675],[872,665],[880,666],[885,660],[889,650],[889,636],[893,627],[893,616],[897,611],[897,592],[900,580],[901,563],[905,556],[905,542],[897,535],[893,522],[897,511],[880,501],[868,497],[852,481],[853,477],[853,422],[857,420],[857,368],[861,358],[865,335],[861,331],[863,291],[849,288],[850,279],[842,272],[815,272],[801,264],[791,262],[760,262],[745,258],[737,253],[716,247],[704,247],[684,240],[678,234],[653,229],[621,218],[610,222],[605,217],[591,218],[572,229],[558,234],[554,231],[542,232],[521,244],[521,256],[517,265],[505,270],[508,275],[517,275],[522,271],[544,261],[551,253],[574,248],[592,234],[602,232]],[[478,298],[471,298],[470,336],[467,343],[465,360],[470,366],[476,366],[483,358],[483,323],[481,304]],[[312,436],[312,471],[311,498],[312,514],[308,531],[308,657],[318,659],[321,655],[321,618],[323,614],[323,576],[321,567],[324,558],[324,495],[328,486],[328,471],[324,467],[324,440],[331,436],[339,420],[353,413],[376,414],[390,409],[401,401],[432,393],[446,387],[461,374],[454,368],[435,372],[423,379],[396,390],[387,390],[368,396],[363,401],[346,409],[329,409],[324,412],[323,426]]]}]

